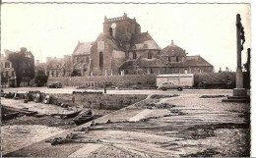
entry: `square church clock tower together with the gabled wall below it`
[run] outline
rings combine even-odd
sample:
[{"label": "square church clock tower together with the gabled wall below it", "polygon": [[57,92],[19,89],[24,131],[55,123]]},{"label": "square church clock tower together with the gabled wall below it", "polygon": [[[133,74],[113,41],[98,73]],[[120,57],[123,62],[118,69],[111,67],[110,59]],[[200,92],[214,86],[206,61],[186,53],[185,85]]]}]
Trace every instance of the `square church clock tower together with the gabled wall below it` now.
[{"label": "square church clock tower together with the gabled wall below it", "polygon": [[109,76],[121,74],[120,66],[126,60],[135,34],[141,33],[141,26],[127,14],[123,17],[104,18],[103,33],[100,33],[91,49],[91,75]]}]

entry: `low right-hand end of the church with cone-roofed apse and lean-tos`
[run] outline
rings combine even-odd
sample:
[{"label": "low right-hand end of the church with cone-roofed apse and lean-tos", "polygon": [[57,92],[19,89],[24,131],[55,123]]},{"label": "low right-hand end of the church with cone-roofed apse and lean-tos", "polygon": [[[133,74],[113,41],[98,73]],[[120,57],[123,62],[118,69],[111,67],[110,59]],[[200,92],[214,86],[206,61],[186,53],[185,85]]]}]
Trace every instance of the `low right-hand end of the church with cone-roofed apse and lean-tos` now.
[{"label": "low right-hand end of the church with cone-roofed apse and lean-tos", "polygon": [[171,44],[163,48],[152,58],[127,60],[121,67],[126,75],[136,74],[197,74],[212,73],[213,65],[201,56],[187,56],[182,48]]}]

